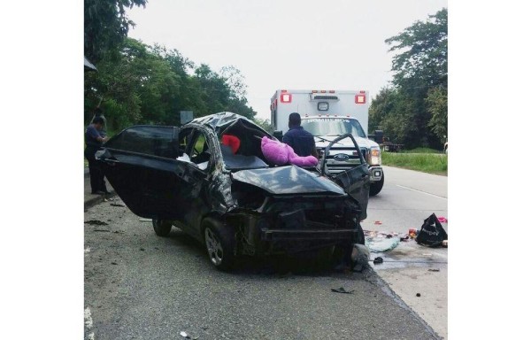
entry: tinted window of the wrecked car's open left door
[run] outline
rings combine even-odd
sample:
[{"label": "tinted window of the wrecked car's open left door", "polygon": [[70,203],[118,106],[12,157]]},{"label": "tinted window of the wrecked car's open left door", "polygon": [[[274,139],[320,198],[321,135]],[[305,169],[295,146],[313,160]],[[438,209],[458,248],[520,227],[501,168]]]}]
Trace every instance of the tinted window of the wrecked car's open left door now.
[{"label": "tinted window of the wrecked car's open left door", "polygon": [[178,142],[173,127],[138,126],[127,128],[105,143],[105,147],[165,158],[177,158]]}]

